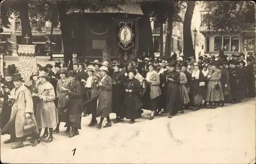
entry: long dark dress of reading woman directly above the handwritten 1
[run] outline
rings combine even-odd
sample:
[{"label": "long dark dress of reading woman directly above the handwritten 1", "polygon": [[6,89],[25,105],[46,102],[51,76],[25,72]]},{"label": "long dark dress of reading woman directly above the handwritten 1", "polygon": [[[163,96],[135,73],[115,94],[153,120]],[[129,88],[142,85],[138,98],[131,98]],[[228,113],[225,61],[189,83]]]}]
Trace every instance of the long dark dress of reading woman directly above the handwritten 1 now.
[{"label": "long dark dress of reading woman directly above the handwritten 1", "polygon": [[78,81],[75,81],[74,84],[70,84],[69,90],[71,92],[67,92],[69,95],[68,101],[68,111],[69,115],[67,126],[76,127],[77,129],[81,129],[81,118],[82,118],[82,93],[81,93],[81,85]]}]

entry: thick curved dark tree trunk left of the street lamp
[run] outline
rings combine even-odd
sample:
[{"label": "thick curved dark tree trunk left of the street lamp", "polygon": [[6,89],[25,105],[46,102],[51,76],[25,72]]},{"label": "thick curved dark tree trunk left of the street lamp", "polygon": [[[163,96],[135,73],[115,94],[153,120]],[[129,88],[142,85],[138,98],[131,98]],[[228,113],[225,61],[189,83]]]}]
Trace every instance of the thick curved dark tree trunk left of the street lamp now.
[{"label": "thick curved dark tree trunk left of the street lamp", "polygon": [[196,1],[188,1],[187,2],[187,9],[184,16],[184,23],[183,23],[183,38],[184,38],[184,48],[183,54],[184,57],[191,57],[195,56],[195,50],[193,47],[192,35],[191,35],[191,20],[194,13],[194,8],[196,5]]}]

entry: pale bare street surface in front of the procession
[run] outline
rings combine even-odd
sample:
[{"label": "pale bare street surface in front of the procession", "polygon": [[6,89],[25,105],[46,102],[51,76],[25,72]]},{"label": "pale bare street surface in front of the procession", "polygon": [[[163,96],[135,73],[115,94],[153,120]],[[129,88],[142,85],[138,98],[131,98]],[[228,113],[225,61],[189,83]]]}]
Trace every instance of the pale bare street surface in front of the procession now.
[{"label": "pale bare street surface in front of the procession", "polygon": [[[216,110],[199,110],[166,115],[152,121],[150,112],[135,124],[124,121],[110,128],[89,128],[91,116],[82,119],[80,135],[67,138],[54,134],[50,144],[42,140],[36,147],[12,150],[3,144],[1,160],[11,163],[254,163],[255,100]],[[112,114],[111,118],[115,116]],[[106,120],[105,120],[106,121]],[[72,150],[76,148],[73,156]]]}]

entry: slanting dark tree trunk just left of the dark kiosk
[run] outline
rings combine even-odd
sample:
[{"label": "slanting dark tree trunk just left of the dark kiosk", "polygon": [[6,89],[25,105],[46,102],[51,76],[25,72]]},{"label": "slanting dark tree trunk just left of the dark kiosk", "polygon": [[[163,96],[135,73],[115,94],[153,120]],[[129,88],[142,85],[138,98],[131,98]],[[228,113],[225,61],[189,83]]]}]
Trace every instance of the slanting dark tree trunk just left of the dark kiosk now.
[{"label": "slanting dark tree trunk just left of the dark kiosk", "polygon": [[63,1],[57,2],[57,10],[59,13],[59,22],[60,22],[60,30],[63,41],[63,50],[64,50],[64,62],[71,63],[70,67],[72,67],[72,30],[70,29],[70,18],[66,14],[66,4]]}]

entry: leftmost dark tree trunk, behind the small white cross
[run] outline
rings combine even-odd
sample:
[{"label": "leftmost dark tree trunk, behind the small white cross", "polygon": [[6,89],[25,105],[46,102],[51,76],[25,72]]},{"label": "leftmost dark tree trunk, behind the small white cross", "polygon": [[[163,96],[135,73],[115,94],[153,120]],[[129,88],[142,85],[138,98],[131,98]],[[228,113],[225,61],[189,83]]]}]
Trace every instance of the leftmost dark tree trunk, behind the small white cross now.
[{"label": "leftmost dark tree trunk, behind the small white cross", "polygon": [[28,2],[22,1],[18,3],[19,9],[19,18],[22,23],[22,44],[32,45],[32,32],[29,22],[29,13],[28,13]]}]

